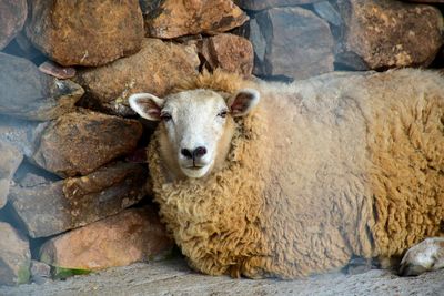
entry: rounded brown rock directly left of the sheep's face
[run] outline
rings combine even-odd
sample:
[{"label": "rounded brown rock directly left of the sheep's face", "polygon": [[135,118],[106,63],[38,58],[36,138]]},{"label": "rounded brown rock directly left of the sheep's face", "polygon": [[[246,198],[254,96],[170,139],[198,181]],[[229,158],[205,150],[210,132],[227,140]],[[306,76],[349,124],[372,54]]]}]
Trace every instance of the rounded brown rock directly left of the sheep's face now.
[{"label": "rounded brown rock directly left of the sheep's face", "polygon": [[135,120],[79,110],[46,127],[32,159],[62,177],[85,175],[132,152],[141,135]]}]

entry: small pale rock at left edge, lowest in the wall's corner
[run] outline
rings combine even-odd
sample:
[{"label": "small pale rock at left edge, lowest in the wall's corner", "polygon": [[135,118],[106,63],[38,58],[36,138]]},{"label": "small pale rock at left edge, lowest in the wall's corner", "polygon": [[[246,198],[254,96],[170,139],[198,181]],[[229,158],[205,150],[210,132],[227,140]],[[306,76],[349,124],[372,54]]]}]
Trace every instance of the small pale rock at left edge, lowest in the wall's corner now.
[{"label": "small pale rock at left edge, lowest in the wall's corner", "polygon": [[31,264],[28,241],[4,222],[0,222],[0,286],[28,283]]}]

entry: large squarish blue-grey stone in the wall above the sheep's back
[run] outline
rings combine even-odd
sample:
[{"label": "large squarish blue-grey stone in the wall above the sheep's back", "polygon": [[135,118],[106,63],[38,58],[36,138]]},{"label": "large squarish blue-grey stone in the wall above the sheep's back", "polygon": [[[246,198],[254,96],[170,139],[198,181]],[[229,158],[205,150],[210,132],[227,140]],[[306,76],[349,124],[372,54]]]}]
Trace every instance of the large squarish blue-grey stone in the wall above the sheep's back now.
[{"label": "large squarish blue-grey stone in the wall above the sheep's back", "polygon": [[256,75],[306,79],[333,71],[329,24],[302,8],[262,11],[249,23]]}]

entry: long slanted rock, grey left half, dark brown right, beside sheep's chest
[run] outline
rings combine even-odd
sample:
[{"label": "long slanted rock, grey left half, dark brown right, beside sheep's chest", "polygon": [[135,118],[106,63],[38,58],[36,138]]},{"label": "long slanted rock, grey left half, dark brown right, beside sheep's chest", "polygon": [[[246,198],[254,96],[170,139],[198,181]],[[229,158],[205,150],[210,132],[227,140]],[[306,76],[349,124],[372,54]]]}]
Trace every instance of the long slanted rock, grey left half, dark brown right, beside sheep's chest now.
[{"label": "long slanted rock, grey left half, dark brown right, beside sheep's chest", "polygon": [[9,200],[31,237],[43,237],[114,215],[145,196],[147,172],[115,163],[57,182],[11,187]]}]

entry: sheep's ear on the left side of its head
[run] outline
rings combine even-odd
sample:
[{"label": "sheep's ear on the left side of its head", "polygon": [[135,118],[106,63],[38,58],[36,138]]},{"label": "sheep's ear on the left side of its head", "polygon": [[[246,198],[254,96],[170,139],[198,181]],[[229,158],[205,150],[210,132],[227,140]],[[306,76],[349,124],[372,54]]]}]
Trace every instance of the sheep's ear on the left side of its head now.
[{"label": "sheep's ear on the left side of its head", "polygon": [[142,118],[151,121],[160,121],[160,112],[164,104],[163,99],[150,93],[135,93],[128,101],[131,109]]}]

